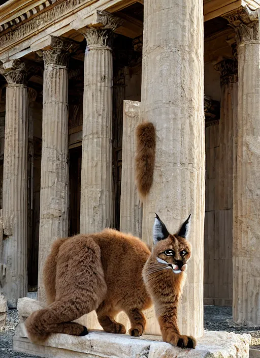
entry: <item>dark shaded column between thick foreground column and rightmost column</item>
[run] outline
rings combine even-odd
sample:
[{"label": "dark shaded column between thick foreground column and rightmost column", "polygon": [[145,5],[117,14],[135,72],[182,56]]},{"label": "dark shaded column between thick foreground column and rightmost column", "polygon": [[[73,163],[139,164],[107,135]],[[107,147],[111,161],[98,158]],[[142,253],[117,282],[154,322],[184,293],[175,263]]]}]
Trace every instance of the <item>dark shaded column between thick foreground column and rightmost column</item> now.
[{"label": "dark shaded column between thick foreground column and rightmost column", "polygon": [[233,243],[233,145],[234,123],[237,121],[238,68],[235,58],[226,58],[215,65],[220,72],[221,103],[219,120],[218,166],[215,184],[214,271],[215,305],[232,304]]}]

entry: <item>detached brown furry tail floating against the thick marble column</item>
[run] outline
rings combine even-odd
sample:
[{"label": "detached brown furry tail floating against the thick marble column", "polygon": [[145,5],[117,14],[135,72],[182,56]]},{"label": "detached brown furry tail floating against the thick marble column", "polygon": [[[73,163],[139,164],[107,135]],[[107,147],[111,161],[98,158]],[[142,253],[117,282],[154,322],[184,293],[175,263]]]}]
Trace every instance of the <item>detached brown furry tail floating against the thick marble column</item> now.
[{"label": "detached brown furry tail floating against the thick marble column", "polygon": [[153,182],[156,133],[154,125],[144,122],[137,126],[136,185],[141,198],[149,193]]}]

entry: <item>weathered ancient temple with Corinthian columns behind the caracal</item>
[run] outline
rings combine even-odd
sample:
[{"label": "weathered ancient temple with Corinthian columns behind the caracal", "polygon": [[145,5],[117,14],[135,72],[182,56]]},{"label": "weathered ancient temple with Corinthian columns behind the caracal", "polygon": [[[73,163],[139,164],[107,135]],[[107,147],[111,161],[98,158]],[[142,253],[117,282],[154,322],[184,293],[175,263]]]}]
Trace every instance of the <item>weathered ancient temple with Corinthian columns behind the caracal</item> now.
[{"label": "weathered ancient temple with Corinthian columns behind the caracal", "polygon": [[[260,42],[253,0],[9,0],[0,6],[0,277],[45,300],[57,237],[105,227],[152,243],[191,213],[182,332],[203,306],[260,325]],[[153,186],[135,129],[156,128]],[[125,319],[123,316],[122,320]],[[83,317],[99,328],[94,314]],[[147,333],[157,334],[153,312]]]}]

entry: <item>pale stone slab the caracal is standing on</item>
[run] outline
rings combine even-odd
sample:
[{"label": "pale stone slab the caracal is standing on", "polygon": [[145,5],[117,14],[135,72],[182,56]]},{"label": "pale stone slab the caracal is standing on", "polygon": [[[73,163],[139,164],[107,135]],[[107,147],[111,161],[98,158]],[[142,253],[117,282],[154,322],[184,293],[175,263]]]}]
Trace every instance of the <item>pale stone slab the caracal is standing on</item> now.
[{"label": "pale stone slab the caracal is standing on", "polygon": [[192,358],[249,357],[250,335],[214,331],[205,331],[204,336],[198,340],[196,349],[173,347],[162,342],[160,336],[143,335],[136,338],[104,331],[91,331],[85,337],[53,334],[44,345],[36,345],[28,340],[23,322],[31,311],[37,309],[37,305],[39,305],[38,309],[43,306],[35,300],[19,301],[20,323],[13,337],[13,349],[21,353],[48,358],[57,356],[60,358],[177,358],[183,354],[185,357]]}]

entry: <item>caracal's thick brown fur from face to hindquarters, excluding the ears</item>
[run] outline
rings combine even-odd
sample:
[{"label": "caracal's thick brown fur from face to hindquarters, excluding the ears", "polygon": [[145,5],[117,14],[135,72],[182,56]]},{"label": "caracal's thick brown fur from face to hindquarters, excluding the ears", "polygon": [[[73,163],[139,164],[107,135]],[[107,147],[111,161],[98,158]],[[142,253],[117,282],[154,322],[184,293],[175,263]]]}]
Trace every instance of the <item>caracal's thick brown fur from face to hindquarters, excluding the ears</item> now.
[{"label": "caracal's thick brown fur from face to hindquarters, excluding the ears", "polygon": [[[169,248],[176,251],[174,259],[165,257]],[[183,248],[188,250],[184,258],[179,256]],[[93,310],[104,331],[122,334],[125,327],[115,316],[124,311],[131,322],[129,334],[141,336],[146,326],[142,311],[151,306],[152,297],[164,340],[174,345],[182,340],[182,346],[194,348],[194,339],[181,336],[177,327],[185,274],[161,270],[156,256],[184,263],[190,246],[184,238],[169,235],[150,253],[139,238],[112,229],[57,240],[44,268],[49,305],[27,318],[29,339],[42,344],[51,333],[83,336],[86,327],[72,321]]]}]

